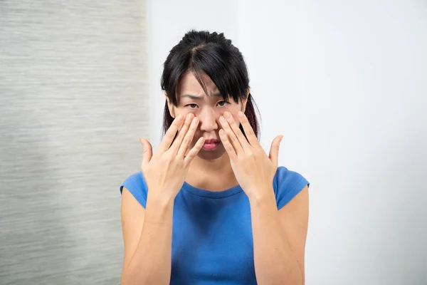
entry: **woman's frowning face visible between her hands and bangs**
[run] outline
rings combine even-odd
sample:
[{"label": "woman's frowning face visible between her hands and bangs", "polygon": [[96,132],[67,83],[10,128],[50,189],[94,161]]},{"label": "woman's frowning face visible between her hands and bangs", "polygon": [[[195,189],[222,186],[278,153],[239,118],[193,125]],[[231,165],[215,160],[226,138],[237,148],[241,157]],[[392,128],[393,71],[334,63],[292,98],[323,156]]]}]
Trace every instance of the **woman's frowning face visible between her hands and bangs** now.
[{"label": "woman's frowning face visible between her hands and bangs", "polygon": [[181,79],[181,84],[176,92],[178,105],[174,106],[168,100],[168,106],[173,118],[176,118],[177,115],[185,116],[188,113],[193,113],[199,118],[199,127],[191,142],[191,147],[199,138],[204,137],[205,143],[198,156],[205,160],[213,160],[226,152],[218,134],[221,129],[219,118],[228,111],[238,122],[237,113],[240,110],[244,113],[246,100],[239,103],[234,102],[233,98],[223,100],[209,76],[204,74],[201,76],[201,80],[205,83],[208,94],[204,92],[194,74],[187,72]]}]

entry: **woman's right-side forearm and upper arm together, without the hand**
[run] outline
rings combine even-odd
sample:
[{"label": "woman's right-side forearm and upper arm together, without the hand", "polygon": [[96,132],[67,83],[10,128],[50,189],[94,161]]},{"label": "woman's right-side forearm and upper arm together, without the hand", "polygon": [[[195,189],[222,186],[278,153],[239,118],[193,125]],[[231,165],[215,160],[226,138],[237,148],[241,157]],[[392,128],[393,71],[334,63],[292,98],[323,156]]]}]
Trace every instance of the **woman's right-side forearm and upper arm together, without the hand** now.
[{"label": "woman's right-side forearm and upper arm together, without the hand", "polygon": [[308,187],[279,211],[273,189],[263,193],[249,199],[258,284],[305,284]]}]

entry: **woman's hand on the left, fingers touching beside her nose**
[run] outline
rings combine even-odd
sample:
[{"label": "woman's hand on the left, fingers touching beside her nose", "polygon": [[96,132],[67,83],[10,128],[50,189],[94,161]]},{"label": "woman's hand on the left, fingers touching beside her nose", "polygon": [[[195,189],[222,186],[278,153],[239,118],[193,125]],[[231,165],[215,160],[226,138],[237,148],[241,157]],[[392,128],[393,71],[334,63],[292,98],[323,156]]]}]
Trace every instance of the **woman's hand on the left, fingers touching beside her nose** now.
[{"label": "woman's hand on the left, fingers touching beside her nose", "polygon": [[[204,144],[204,138],[199,138],[187,153],[199,125],[199,119],[189,113],[186,115],[184,125],[183,120],[183,115],[175,118],[154,154],[149,141],[140,140],[144,147],[141,170],[147,183],[149,198],[173,201],[184,184],[191,160],[196,157]],[[174,140],[177,131],[178,135]]]}]

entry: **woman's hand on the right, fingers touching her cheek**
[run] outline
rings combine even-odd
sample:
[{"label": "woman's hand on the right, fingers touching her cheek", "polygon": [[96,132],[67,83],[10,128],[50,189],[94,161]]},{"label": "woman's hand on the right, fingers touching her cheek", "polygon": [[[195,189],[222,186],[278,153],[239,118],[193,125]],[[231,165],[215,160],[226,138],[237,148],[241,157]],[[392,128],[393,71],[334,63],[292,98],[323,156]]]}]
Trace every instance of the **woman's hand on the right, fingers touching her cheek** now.
[{"label": "woman's hand on the right, fingers touching her cheek", "polygon": [[273,140],[267,156],[246,115],[238,112],[238,120],[245,130],[247,140],[231,113],[224,113],[219,120],[223,128],[219,130],[219,135],[230,157],[234,175],[250,199],[270,195],[268,192],[273,187],[273,178],[278,168],[279,145],[283,136],[279,135]]}]

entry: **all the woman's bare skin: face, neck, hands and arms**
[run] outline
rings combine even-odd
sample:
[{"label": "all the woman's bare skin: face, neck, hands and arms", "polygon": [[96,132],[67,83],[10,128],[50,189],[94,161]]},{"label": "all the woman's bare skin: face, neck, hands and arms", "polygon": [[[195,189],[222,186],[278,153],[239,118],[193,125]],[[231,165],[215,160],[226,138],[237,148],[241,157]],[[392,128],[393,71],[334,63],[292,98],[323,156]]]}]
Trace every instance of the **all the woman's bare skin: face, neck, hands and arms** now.
[{"label": "all the woman's bare skin: face, neck, hands and arms", "polygon": [[[169,284],[174,198],[184,181],[211,191],[241,185],[251,204],[258,284],[304,284],[308,189],[277,209],[272,182],[282,136],[273,140],[267,155],[242,113],[246,101],[225,102],[216,95],[218,89],[209,77],[202,80],[208,94],[192,73],[182,78],[176,93],[178,105],[168,104],[174,123],[155,152],[147,140],[141,140],[142,172],[149,195],[144,209],[123,190],[122,284]],[[207,139],[220,139],[221,143],[216,150],[207,151],[202,149]]]}]

